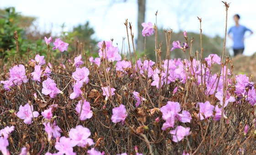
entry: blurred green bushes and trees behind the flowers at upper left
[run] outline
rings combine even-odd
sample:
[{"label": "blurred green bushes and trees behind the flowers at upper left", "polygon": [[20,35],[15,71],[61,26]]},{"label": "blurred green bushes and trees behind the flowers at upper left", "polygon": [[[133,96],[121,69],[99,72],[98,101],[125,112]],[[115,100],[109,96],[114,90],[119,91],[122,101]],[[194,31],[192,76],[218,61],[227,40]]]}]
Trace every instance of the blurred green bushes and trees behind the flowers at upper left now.
[{"label": "blurred green bushes and trees behind the flowers at upper left", "polygon": [[[36,17],[23,16],[15,11],[14,7],[0,10],[0,59],[7,60],[15,55],[16,44],[14,32],[18,34],[18,45],[21,56],[27,57],[28,47],[32,54],[46,55],[47,46],[44,42],[44,36],[50,37],[52,32],[42,32],[34,24]],[[62,28],[64,24],[62,25]],[[94,50],[97,40],[93,38],[94,29],[90,27],[89,22],[77,25],[73,30],[63,32],[60,36],[69,43],[69,48],[77,50],[75,46],[80,46],[80,50]],[[53,39],[58,36],[52,36]],[[78,41],[79,40],[79,41]],[[79,43],[79,44],[77,44]],[[70,51],[70,52],[72,52]],[[53,52],[57,55],[57,52]]]}]

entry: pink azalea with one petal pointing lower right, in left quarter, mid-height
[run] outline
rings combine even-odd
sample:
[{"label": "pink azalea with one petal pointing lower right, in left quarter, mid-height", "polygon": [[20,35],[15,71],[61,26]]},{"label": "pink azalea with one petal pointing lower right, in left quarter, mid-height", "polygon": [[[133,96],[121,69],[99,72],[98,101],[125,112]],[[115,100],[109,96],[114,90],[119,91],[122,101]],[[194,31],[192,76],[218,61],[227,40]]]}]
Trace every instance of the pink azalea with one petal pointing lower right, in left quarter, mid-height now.
[{"label": "pink azalea with one petal pointing lower right, in left quarter, mid-height", "polygon": [[56,87],[54,80],[50,78],[43,81],[42,93],[44,95],[50,95],[51,98],[55,98],[55,96],[59,93],[63,94],[63,92]]}]

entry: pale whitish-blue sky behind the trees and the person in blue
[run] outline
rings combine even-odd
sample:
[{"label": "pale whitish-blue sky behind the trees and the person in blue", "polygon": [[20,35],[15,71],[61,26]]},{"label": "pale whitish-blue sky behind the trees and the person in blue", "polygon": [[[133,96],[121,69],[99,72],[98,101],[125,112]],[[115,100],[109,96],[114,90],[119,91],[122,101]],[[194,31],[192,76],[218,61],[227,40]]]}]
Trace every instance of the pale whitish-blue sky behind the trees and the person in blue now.
[{"label": "pale whitish-blue sky behind the trees and the person in blue", "polygon": [[[96,31],[94,37],[99,40],[113,38],[114,42],[121,46],[122,38],[126,37],[126,29],[123,25],[125,19],[132,22],[134,35],[137,34],[137,0],[123,1],[0,0],[0,8],[14,6],[22,15],[35,16],[40,29],[52,30],[54,35],[59,35],[60,25],[63,23],[66,25],[65,30],[71,30],[73,26],[89,21]],[[228,12],[228,29],[235,24],[233,15],[239,14],[240,24],[255,33],[245,39],[244,54],[252,55],[256,51],[254,46],[256,44],[256,0],[227,2],[231,2]],[[158,10],[157,24],[160,27],[171,28],[175,32],[186,30],[199,33],[198,16],[203,20],[203,34],[224,37],[225,8],[221,0],[147,0],[146,22],[155,23],[156,10]],[[227,39],[227,46],[232,46],[232,41],[229,39]]]}]

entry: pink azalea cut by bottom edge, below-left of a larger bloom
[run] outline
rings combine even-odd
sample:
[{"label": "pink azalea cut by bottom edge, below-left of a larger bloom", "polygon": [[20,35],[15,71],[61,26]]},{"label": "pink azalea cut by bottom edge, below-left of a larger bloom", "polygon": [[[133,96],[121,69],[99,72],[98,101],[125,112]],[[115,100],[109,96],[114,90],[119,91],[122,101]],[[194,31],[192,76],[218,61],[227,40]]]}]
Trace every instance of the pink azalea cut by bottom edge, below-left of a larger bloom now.
[{"label": "pink azalea cut by bottom edge, below-left of a larger bloom", "polygon": [[66,155],[76,155],[73,152],[73,147],[76,145],[74,140],[66,137],[60,137],[59,142],[56,142],[55,149],[59,150],[59,153]]}]

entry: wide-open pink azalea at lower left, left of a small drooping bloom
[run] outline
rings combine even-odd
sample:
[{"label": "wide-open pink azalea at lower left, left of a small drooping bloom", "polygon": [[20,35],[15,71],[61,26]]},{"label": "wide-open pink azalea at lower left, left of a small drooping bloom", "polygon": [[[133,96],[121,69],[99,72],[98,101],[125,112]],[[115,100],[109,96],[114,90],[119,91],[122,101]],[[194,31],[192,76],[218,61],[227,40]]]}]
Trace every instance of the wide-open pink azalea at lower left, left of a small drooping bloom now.
[{"label": "wide-open pink azalea at lower left, left of a small drooping bloom", "polygon": [[19,111],[17,112],[17,116],[24,120],[25,124],[31,124],[32,118],[37,117],[39,113],[37,111],[34,111],[33,105],[30,105],[27,103],[26,105],[22,106],[20,105]]}]

